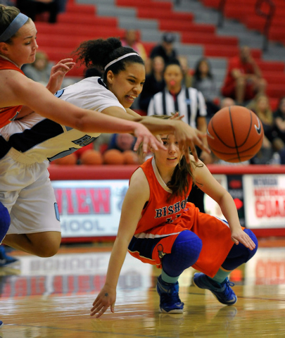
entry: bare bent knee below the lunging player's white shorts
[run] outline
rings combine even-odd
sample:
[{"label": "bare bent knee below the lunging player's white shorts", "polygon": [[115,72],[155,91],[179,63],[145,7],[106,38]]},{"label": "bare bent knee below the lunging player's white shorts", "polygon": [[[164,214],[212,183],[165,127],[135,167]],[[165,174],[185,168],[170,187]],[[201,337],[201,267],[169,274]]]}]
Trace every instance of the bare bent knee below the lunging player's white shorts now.
[{"label": "bare bent knee below the lunging player's white shorts", "polygon": [[61,245],[61,232],[47,231],[34,234],[7,234],[4,244],[39,257],[54,256]]}]

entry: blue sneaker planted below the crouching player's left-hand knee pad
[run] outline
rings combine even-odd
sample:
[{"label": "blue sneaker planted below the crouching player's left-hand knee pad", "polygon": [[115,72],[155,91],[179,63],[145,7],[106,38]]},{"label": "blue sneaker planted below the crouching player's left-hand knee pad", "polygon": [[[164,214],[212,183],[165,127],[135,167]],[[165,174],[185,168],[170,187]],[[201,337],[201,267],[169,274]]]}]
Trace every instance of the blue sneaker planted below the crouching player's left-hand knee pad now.
[{"label": "blue sneaker planted below the crouching player's left-hand knee pad", "polygon": [[160,295],[160,312],[162,313],[183,313],[184,303],[179,299],[179,284],[164,282],[161,275],[158,277],[156,290]]}]

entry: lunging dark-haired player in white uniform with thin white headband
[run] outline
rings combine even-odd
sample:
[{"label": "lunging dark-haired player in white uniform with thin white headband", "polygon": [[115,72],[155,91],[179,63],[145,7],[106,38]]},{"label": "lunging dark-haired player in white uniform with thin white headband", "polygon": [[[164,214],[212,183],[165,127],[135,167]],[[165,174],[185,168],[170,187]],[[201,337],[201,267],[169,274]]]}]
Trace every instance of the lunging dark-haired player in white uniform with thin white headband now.
[{"label": "lunging dark-haired player in white uniform with thin white headband", "polygon": [[[177,134],[182,149],[184,145],[194,146],[194,138],[189,137],[189,134],[193,136],[194,129],[186,123],[141,117],[129,109],[140,94],[145,78],[144,61],[132,49],[122,47],[120,40],[115,38],[99,39],[82,43],[76,55],[90,67],[97,65],[106,68],[103,78],[87,77],[58,90],[56,96],[60,98],[59,101],[99,111],[101,115],[118,116],[126,122],[139,120],[151,132]],[[56,199],[48,179],[47,160],[53,161],[80,149],[99,137],[100,133],[82,133],[64,125],[56,125],[37,113],[12,121],[0,133],[4,140],[0,149],[0,172],[4,173],[1,175],[0,200],[4,205],[8,201],[6,206],[12,220],[4,243],[37,256],[52,256],[61,243],[61,227],[58,214],[55,213]],[[14,182],[14,177],[17,177],[13,189],[18,194],[10,196],[7,191],[12,179],[11,173],[21,173],[27,165],[30,166],[27,175],[34,173],[34,168],[37,168],[37,177],[30,175],[27,183],[13,175]],[[4,198],[1,199],[1,196]],[[44,196],[42,205],[39,196]],[[31,208],[30,201],[38,203],[32,204]],[[18,207],[23,206],[23,203],[25,221],[23,207]]]}]

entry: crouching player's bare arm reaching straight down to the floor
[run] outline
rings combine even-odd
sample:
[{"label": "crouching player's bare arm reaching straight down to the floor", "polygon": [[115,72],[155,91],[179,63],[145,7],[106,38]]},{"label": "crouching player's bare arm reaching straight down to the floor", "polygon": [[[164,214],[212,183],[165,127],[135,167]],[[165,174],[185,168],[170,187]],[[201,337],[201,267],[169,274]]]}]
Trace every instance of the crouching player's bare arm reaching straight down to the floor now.
[{"label": "crouching player's bare arm reaching straight down to the floor", "polygon": [[[141,217],[141,211],[149,198],[149,187],[146,176],[141,168],[133,175],[129,184],[129,189],[122,204],[122,213],[117,238],[112,249],[106,282],[96,297],[91,308],[90,315],[99,318],[110,306],[114,312],[116,287],[120,276],[122,264],[125,261],[127,247],[136,230],[137,223]],[[132,211],[132,212],[129,212]]]}]

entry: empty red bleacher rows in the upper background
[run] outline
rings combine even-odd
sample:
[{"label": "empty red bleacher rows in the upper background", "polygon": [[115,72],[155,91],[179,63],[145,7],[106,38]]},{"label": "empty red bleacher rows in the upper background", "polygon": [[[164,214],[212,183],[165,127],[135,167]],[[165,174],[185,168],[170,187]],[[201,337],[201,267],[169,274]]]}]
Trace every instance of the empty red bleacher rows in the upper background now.
[{"label": "empty red bleacher rows in the upper background", "polygon": [[[283,1],[283,2],[282,2]],[[201,0],[205,6],[217,8],[220,0]],[[284,39],[285,1],[276,0],[278,11],[272,20],[270,36]],[[284,4],[284,6],[283,6]],[[138,20],[152,19],[158,23],[160,31],[177,32],[182,44],[203,46],[203,55],[209,58],[230,58],[239,53],[239,39],[236,37],[216,34],[215,25],[194,22],[194,15],[173,10],[172,1],[133,1],[115,0],[115,5],[122,8],[135,8]],[[248,27],[262,30],[265,19],[255,13],[255,0],[227,0],[224,15],[228,18],[240,20]],[[262,8],[266,11],[267,8]],[[284,13],[281,15],[281,13]],[[65,13],[58,15],[56,24],[37,22],[39,49],[46,51],[51,61],[60,61],[70,57],[72,51],[87,39],[107,37],[122,37],[125,29],[119,25],[119,18],[97,15],[96,6],[90,4],[76,4],[68,1]],[[59,34],[60,33],[60,34]],[[281,40],[280,40],[281,41]],[[149,54],[156,42],[142,42]],[[263,61],[262,51],[252,49],[253,56],[258,62],[264,77],[268,82],[267,94],[270,96],[272,107],[277,105],[280,96],[285,94],[284,63],[277,61]],[[82,77],[84,65],[77,64],[68,76]]]}]

